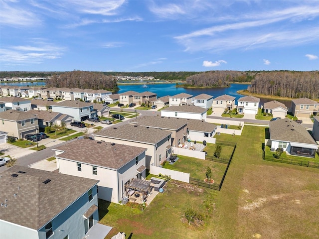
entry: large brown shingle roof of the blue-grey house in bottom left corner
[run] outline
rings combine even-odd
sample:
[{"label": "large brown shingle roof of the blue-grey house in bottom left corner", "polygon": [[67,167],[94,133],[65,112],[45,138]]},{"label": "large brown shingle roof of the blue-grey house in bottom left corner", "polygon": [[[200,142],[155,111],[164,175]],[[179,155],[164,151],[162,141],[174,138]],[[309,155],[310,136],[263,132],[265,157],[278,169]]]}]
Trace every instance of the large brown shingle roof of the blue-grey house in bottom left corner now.
[{"label": "large brown shingle roof of the blue-grey house in bottom left corner", "polygon": [[[0,207],[0,219],[34,230],[42,228],[99,182],[18,165],[0,175],[0,202],[7,199],[7,207]],[[47,179],[51,181],[44,184]]]}]

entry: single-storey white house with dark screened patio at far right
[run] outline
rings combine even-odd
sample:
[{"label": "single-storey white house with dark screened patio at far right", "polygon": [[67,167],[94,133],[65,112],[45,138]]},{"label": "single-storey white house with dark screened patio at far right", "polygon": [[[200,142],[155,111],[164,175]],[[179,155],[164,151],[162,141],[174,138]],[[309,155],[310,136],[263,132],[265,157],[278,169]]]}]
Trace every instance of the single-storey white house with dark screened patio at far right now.
[{"label": "single-storey white house with dark screened patio at far right", "polygon": [[317,142],[307,129],[292,119],[277,119],[269,122],[271,150],[283,148],[295,156],[314,158],[318,149]]}]

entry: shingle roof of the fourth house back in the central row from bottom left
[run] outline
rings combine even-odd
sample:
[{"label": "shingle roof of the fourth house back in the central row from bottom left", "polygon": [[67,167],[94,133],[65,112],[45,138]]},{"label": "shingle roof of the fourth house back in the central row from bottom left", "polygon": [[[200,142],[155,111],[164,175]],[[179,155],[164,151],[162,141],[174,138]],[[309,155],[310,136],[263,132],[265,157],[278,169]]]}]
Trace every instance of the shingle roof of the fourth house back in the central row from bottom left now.
[{"label": "shingle roof of the fourth house back in the central row from bottom left", "polygon": [[142,116],[138,119],[132,119],[130,122],[137,122],[142,126],[149,126],[155,128],[178,130],[179,128],[186,126],[186,122],[183,119],[167,118],[159,116]]}]

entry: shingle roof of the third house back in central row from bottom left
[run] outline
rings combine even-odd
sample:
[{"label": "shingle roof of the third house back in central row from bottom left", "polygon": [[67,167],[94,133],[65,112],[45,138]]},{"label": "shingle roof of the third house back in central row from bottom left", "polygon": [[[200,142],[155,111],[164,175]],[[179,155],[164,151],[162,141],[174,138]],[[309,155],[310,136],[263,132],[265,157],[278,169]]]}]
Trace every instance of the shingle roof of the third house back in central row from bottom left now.
[{"label": "shingle roof of the third house back in central row from bottom left", "polygon": [[148,144],[157,144],[171,132],[158,128],[148,128],[144,126],[136,126],[124,124],[120,127],[109,127],[95,135],[105,136],[108,138],[123,139],[126,141],[142,142]]}]

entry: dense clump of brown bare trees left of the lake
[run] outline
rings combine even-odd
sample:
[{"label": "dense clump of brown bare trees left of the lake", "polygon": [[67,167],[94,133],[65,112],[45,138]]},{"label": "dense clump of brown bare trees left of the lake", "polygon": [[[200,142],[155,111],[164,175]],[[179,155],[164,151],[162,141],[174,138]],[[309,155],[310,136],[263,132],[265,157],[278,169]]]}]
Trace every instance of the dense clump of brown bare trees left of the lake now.
[{"label": "dense clump of brown bare trees left of the lake", "polygon": [[45,81],[47,87],[80,88],[92,90],[119,90],[117,80],[113,76],[89,71],[71,71],[63,74],[55,74]]}]

